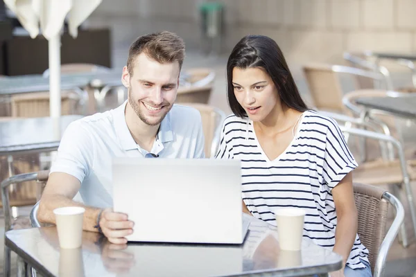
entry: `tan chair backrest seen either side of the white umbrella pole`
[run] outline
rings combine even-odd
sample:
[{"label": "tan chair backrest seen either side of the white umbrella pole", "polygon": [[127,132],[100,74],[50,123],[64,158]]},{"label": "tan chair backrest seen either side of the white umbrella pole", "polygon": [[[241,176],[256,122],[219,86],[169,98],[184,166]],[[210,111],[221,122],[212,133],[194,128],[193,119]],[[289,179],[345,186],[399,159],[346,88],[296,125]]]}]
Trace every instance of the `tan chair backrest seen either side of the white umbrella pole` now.
[{"label": "tan chair backrest seen either side of the white umbrella pole", "polygon": [[[11,98],[12,116],[49,116],[49,91],[21,93]],[[85,96],[79,89],[61,91],[61,114],[83,114]]]}]

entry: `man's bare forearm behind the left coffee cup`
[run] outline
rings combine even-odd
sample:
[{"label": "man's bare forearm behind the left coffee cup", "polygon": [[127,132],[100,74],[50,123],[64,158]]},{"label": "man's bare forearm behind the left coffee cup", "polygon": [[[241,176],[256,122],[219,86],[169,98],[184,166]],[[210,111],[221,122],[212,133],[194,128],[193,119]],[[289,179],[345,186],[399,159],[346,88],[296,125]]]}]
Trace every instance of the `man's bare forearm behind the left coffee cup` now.
[{"label": "man's bare forearm behind the left coffee cup", "polygon": [[79,206],[85,208],[83,229],[85,231],[98,231],[94,226],[97,223],[99,208],[93,208],[85,206],[79,202],[75,202],[72,199],[64,197],[62,195],[44,195],[40,201],[39,210],[37,212],[37,219],[43,223],[55,224],[55,215],[53,210],[55,208]]}]

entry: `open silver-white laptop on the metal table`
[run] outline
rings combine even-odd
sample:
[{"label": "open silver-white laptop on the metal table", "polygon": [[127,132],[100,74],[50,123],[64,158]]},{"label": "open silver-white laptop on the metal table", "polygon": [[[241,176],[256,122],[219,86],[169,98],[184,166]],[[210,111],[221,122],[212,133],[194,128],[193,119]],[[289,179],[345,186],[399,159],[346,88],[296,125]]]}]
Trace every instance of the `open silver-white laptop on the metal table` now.
[{"label": "open silver-white laptop on the metal table", "polygon": [[242,244],[248,231],[238,160],[114,158],[114,211],[130,242]]}]

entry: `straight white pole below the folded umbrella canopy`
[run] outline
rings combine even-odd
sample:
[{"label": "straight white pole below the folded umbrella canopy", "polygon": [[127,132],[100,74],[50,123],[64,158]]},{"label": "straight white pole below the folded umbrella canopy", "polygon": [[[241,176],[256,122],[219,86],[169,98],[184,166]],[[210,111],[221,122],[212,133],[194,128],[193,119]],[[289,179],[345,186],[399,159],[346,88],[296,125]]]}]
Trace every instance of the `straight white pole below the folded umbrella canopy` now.
[{"label": "straight white pole below the folded umbrella canopy", "polygon": [[49,39],[49,111],[51,117],[61,115],[60,33]]}]

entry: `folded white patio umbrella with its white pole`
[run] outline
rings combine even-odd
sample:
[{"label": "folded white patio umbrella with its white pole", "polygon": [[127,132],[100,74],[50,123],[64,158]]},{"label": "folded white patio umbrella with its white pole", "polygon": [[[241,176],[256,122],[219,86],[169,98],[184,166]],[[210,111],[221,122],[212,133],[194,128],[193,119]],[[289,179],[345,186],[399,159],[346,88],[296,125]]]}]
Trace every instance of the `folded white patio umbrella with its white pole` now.
[{"label": "folded white patio umbrella with its white pole", "polygon": [[60,109],[60,31],[68,15],[69,33],[78,35],[78,26],[96,9],[102,0],[4,0],[15,12],[21,26],[35,38],[39,34],[49,41],[49,89],[51,116],[59,117]]}]

